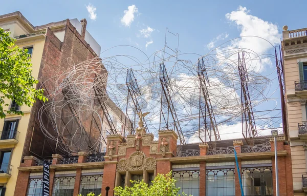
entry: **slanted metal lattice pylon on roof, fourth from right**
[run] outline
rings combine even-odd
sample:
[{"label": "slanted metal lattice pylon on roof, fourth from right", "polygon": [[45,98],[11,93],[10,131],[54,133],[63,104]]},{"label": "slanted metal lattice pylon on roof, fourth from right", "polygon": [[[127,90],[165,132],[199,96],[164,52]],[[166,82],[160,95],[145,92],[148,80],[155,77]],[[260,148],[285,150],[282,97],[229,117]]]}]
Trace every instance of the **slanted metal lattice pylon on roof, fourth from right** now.
[{"label": "slanted metal lattice pylon on roof, fourth from right", "polygon": [[[171,100],[171,96],[170,96],[170,90],[171,86],[170,86],[170,81],[169,81],[169,77],[167,75],[167,71],[165,68],[164,63],[160,64],[160,83],[162,86],[162,90],[163,93],[161,93],[161,101],[163,100],[163,97],[165,98],[166,102],[167,102],[167,112],[163,111],[162,108],[162,104],[161,104],[161,108],[160,108],[160,124],[161,124],[161,116],[163,116],[164,122],[165,122],[165,126],[167,129],[169,129],[169,114],[172,117],[172,122],[174,124],[174,129],[176,130],[176,132],[178,133],[179,136],[179,140],[180,140],[180,144],[186,144],[185,139],[184,139],[184,135],[176,114],[176,110],[174,108],[173,102]],[[162,115],[161,115],[162,114]],[[161,127],[161,125],[160,125]]]}]

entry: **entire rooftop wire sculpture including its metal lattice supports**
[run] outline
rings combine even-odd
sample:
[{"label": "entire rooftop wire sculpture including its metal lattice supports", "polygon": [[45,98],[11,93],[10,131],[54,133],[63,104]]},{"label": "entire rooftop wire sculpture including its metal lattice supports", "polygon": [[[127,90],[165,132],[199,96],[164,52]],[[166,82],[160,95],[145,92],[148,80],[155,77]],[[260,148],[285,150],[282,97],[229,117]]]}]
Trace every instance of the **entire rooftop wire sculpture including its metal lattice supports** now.
[{"label": "entire rooftop wire sculpture including its metal lattice supports", "polygon": [[[230,139],[232,134],[242,133],[240,129],[234,131],[234,125],[242,127],[246,110],[241,101],[238,53],[244,55],[241,58],[245,61],[248,74],[245,85],[249,90],[244,93],[248,93],[253,107],[258,135],[283,126],[280,78],[276,76],[276,69],[269,73],[260,71],[264,62],[275,62],[275,52],[257,54],[251,49],[228,46],[231,40],[205,55],[181,53],[179,35],[168,29],[166,35],[178,38],[177,48],[171,48],[165,40],[165,46],[150,56],[134,46],[120,45],[103,51],[100,58],[78,64],[68,59],[70,68],[53,77],[54,90],[42,85],[49,99],[38,112],[40,129],[45,136],[55,141],[57,148],[69,153],[103,151],[107,134],[118,133],[125,137],[134,133],[138,122],[136,113],[142,110],[150,112],[143,122],[146,131],[155,136],[159,129],[175,127],[181,136],[180,144]],[[261,37],[250,37],[264,41]],[[127,53],[107,55],[117,49]],[[160,81],[161,65],[167,72],[167,81],[164,81],[169,88],[167,96],[162,88],[164,83]],[[165,75],[162,76],[165,79]],[[261,107],[264,104],[270,107],[265,106],[264,110]],[[176,118],[170,117],[169,121],[168,115],[175,112]],[[161,113],[167,116],[160,117]],[[52,126],[45,123],[46,117]]]}]

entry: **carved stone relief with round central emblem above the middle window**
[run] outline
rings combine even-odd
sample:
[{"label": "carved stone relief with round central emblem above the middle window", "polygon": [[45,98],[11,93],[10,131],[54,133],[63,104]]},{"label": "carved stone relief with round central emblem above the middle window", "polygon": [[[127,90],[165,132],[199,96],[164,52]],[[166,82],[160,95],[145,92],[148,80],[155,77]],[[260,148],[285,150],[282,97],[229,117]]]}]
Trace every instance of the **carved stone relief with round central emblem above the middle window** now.
[{"label": "carved stone relief with round central emblem above the middle window", "polygon": [[146,158],[142,151],[132,153],[128,159],[121,159],[117,165],[117,171],[135,171],[135,170],[154,170],[156,169],[156,159]]}]

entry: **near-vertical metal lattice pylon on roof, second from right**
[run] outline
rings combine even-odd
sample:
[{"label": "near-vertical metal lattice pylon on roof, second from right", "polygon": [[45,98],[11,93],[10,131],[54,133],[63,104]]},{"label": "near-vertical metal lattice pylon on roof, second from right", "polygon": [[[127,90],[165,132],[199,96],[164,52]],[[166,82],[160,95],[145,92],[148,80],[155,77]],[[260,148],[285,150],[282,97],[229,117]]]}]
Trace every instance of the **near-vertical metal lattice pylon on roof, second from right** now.
[{"label": "near-vertical metal lattice pylon on roof, second from right", "polygon": [[[242,104],[242,134],[245,141],[249,144],[249,138],[258,136],[252,103],[250,100],[249,90],[248,90],[248,72],[245,64],[244,52],[242,52],[242,57],[240,57],[240,52],[238,52],[238,71],[241,82],[241,104]],[[244,133],[245,125],[245,133]]]}]

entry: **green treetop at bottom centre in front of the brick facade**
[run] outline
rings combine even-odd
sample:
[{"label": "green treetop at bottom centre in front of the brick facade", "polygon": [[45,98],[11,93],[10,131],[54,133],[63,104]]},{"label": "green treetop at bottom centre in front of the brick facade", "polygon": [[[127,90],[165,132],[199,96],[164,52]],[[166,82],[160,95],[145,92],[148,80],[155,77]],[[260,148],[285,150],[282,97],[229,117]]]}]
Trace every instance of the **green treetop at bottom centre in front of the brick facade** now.
[{"label": "green treetop at bottom centre in front of the brick facade", "polygon": [[[131,181],[134,186],[125,188],[118,186],[114,188],[115,195],[119,196],[180,196],[180,188],[176,187],[176,180],[172,178],[171,171],[166,175],[158,174],[152,185],[148,186],[142,181]],[[187,195],[185,193],[182,196]]]}]

